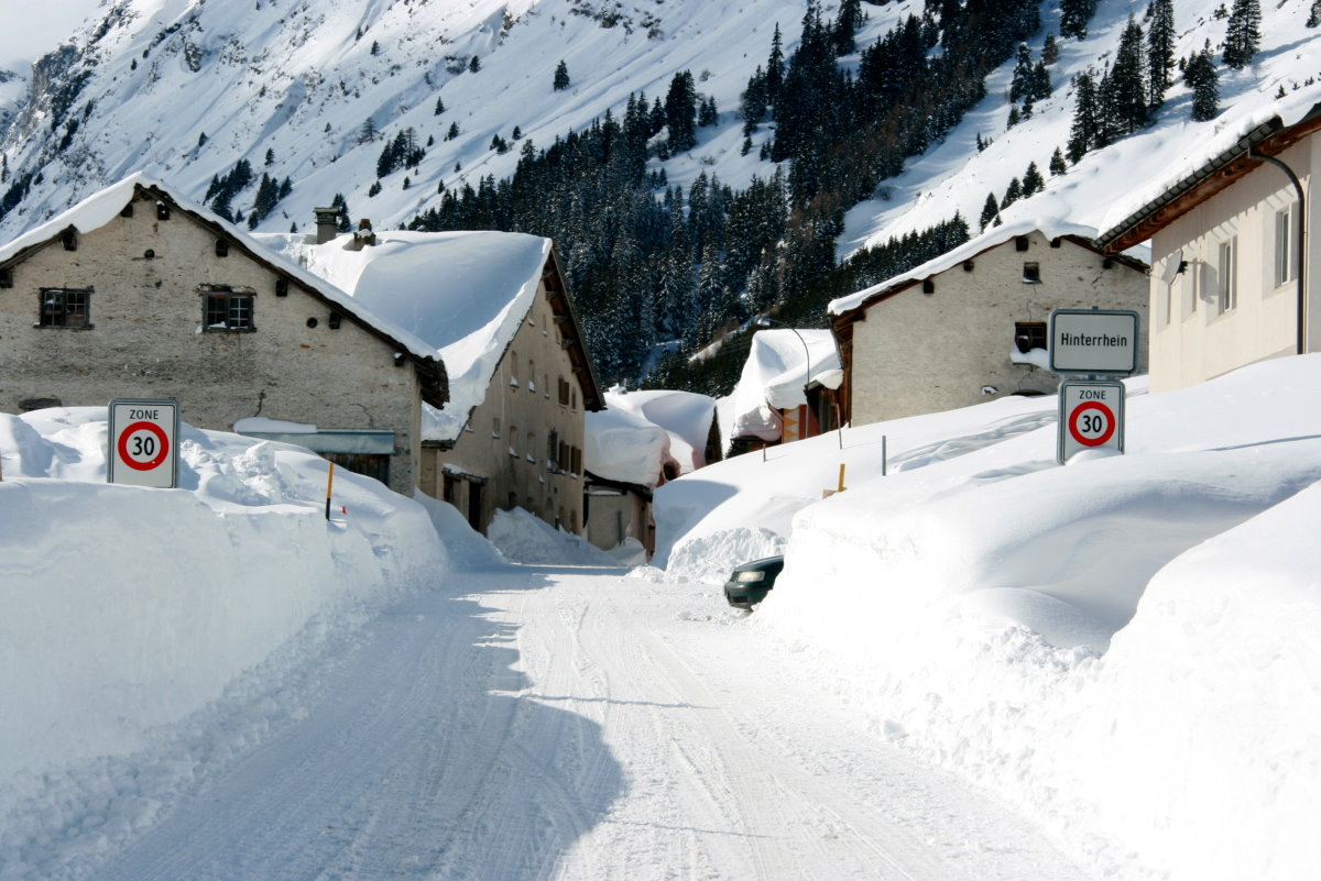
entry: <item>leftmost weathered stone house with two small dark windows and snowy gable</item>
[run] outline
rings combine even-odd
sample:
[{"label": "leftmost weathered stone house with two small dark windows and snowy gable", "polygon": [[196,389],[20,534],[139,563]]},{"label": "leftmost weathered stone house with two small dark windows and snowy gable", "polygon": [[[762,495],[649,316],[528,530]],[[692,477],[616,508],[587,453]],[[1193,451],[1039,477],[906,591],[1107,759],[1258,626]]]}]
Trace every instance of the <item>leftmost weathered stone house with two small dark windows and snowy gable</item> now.
[{"label": "leftmost weathered stone house with two small dark windows and snowy gable", "polygon": [[133,175],[0,248],[0,410],[173,397],[411,492],[435,348],[157,181]]}]

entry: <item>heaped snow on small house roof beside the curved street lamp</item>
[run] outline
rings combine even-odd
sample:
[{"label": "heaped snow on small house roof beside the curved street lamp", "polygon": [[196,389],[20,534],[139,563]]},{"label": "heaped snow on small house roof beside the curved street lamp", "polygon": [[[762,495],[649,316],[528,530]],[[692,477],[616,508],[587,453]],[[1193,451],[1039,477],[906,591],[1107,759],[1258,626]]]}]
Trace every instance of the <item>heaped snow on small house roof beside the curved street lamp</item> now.
[{"label": "heaped snow on small house roof beside the curved street lamp", "polygon": [[[811,375],[808,376],[808,357]],[[828,330],[764,330],[752,338],[733,394],[731,437],[778,440],[777,410],[807,404],[804,386],[839,388],[839,349]]]}]

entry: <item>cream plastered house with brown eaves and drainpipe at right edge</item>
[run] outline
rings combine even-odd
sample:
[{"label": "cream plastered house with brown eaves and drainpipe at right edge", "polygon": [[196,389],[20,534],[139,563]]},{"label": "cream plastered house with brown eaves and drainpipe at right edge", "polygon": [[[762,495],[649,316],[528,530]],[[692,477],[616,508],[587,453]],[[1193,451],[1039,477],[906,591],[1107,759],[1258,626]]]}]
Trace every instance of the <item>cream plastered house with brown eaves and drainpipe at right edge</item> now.
[{"label": "cream plastered house with brown eaves and drainpipe at right edge", "polygon": [[[1151,389],[1194,385],[1321,351],[1321,245],[1306,231],[1321,169],[1321,104],[1295,98],[1226,128],[1178,174],[1119,207],[1099,241],[1151,240]],[[1189,170],[1192,169],[1192,170]]]}]

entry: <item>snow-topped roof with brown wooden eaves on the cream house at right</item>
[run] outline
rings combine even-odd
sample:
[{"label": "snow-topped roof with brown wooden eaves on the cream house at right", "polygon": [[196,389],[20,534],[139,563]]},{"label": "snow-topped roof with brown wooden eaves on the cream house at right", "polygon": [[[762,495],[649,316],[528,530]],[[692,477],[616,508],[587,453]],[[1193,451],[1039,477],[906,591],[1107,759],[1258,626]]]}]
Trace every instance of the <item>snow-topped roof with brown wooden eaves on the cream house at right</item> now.
[{"label": "snow-topped roof with brown wooden eaves on the cream house at right", "polygon": [[1262,157],[1275,157],[1321,129],[1321,103],[1313,100],[1314,96],[1301,104],[1295,102],[1266,119],[1251,116],[1240,125],[1221,132],[1210,145],[1180,164],[1173,177],[1140,194],[1136,208],[1128,202],[1112,212],[1124,214],[1098,236],[1098,244],[1107,251],[1123,251],[1151,239],[1155,232],[1263,165],[1266,160]]}]

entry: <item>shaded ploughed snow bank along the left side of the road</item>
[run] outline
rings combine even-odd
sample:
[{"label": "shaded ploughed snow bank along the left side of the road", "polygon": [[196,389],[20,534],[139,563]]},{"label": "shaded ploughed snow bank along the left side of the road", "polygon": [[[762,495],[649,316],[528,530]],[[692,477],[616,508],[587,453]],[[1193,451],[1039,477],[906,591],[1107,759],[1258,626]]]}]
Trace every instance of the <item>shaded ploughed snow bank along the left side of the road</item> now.
[{"label": "shaded ploughed snow bank along the left side of the road", "polygon": [[0,414],[0,815],[452,566],[378,481],[337,473],[326,522],[326,463],[299,447],[181,426],[178,489],[106,484],[104,448],[104,408]]}]

